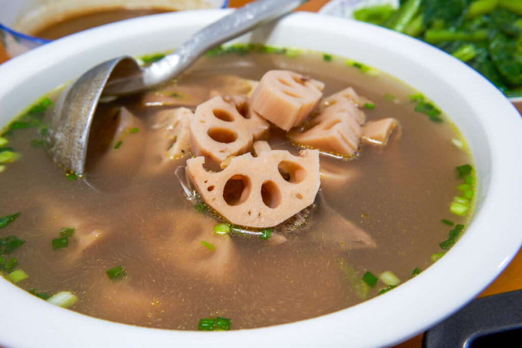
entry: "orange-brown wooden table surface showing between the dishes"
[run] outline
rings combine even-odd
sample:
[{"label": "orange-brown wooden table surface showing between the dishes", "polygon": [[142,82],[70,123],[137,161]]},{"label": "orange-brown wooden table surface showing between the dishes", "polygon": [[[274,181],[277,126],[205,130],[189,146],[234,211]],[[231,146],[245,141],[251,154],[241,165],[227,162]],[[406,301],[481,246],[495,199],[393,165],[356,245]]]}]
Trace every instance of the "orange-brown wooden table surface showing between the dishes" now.
[{"label": "orange-brown wooden table surface showing between the dishes", "polygon": [[[248,0],[230,0],[230,7],[242,6],[248,2]],[[328,0],[311,0],[301,5],[298,10],[301,11],[317,11]],[[2,46],[0,45],[0,63],[7,61],[8,57],[5,54]],[[1,81],[0,81],[1,83]],[[485,289],[480,296],[493,295],[497,293],[513,291],[522,289],[522,252],[519,251],[513,261],[507,266],[507,268],[499,275],[499,277],[491,283],[487,289]],[[414,337],[413,339],[399,344],[397,348],[420,348],[421,347],[422,335]]]}]

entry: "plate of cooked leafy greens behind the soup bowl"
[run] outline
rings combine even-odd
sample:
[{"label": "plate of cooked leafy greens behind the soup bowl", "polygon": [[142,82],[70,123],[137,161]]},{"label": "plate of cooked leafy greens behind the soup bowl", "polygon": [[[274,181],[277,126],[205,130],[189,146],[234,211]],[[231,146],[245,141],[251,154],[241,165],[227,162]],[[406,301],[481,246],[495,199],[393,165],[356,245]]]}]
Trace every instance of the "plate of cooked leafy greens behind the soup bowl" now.
[{"label": "plate of cooked leafy greens behind the soup bowl", "polygon": [[522,1],[333,0],[319,13],[354,18],[430,43],[522,100]]}]

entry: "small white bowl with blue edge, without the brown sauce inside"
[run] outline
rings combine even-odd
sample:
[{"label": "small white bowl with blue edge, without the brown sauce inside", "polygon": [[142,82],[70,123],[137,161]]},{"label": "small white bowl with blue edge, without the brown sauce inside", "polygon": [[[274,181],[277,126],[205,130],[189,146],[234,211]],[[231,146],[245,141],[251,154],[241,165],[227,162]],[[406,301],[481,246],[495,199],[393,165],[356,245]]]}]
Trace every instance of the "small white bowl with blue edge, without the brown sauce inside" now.
[{"label": "small white bowl with blue edge, without the brown sauce inside", "polygon": [[92,8],[158,6],[172,10],[226,8],[228,0],[0,0],[0,35],[9,57],[15,57],[50,40],[28,34],[56,18]]}]

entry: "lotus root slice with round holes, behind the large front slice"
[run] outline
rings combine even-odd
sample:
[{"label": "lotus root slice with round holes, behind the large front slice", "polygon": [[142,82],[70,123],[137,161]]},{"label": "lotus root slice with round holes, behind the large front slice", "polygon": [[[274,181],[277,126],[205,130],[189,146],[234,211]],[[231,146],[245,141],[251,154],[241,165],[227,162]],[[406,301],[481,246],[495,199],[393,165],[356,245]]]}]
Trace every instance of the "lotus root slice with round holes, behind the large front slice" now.
[{"label": "lotus root slice with round holes, behind the large front slice", "polygon": [[213,164],[250,151],[254,140],[269,129],[252,110],[248,98],[214,97],[196,108],[191,124],[191,149]]}]

